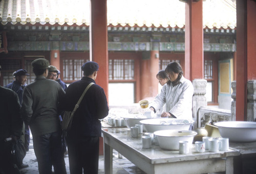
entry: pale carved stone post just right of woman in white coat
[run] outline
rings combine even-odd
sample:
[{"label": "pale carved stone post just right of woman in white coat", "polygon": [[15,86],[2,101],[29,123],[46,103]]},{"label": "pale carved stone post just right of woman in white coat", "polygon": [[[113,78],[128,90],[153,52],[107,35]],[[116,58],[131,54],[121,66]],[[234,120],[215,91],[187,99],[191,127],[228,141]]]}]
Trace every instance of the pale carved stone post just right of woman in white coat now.
[{"label": "pale carved stone post just right of woman in white coat", "polygon": [[204,96],[206,94],[206,85],[207,80],[205,79],[194,79],[193,86],[194,86],[194,96],[193,96],[193,118],[196,121],[196,127],[198,127],[198,109],[201,106],[207,106],[207,100]]}]

